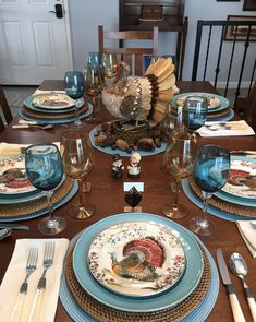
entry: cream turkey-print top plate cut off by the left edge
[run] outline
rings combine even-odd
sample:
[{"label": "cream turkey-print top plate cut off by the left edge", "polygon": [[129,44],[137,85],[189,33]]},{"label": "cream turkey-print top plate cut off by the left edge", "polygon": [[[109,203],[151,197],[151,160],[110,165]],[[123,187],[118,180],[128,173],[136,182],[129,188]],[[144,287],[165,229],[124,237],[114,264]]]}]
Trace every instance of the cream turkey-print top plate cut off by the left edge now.
[{"label": "cream turkey-print top plate cut off by the left edge", "polygon": [[16,194],[35,190],[26,176],[24,156],[0,158],[0,193]]}]

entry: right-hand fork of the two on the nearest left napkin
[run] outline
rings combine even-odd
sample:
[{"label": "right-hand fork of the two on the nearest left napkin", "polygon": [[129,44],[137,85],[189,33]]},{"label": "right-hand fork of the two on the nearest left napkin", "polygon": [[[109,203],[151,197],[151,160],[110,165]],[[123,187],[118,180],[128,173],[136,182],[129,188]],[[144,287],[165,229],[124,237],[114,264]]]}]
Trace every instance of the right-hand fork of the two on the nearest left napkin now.
[{"label": "right-hand fork of the two on the nearest left napkin", "polygon": [[42,261],[42,266],[44,266],[44,272],[41,274],[40,279],[38,281],[37,284],[37,291],[36,296],[32,306],[32,311],[28,318],[28,322],[34,322],[36,321],[37,313],[40,308],[40,301],[41,301],[41,296],[44,290],[46,289],[46,272],[47,270],[53,264],[53,259],[54,259],[54,249],[56,245],[53,241],[48,241],[45,247],[45,252],[44,252],[44,261]]}]

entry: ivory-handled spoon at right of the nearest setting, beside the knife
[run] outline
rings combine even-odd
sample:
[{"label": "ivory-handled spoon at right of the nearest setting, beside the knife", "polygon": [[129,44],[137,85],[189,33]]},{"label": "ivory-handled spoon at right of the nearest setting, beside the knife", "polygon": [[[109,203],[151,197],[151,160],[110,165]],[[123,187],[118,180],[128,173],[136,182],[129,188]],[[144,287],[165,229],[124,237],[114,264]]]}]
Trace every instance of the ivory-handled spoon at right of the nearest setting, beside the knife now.
[{"label": "ivory-handled spoon at right of the nearest setting, beside the knife", "polygon": [[253,296],[252,289],[245,283],[244,277],[247,275],[248,269],[244,258],[240,253],[232,253],[230,257],[230,269],[234,275],[240,277],[243,282],[243,287],[245,291],[245,296],[247,298],[247,302],[249,306],[249,310],[253,317],[253,321],[256,322],[256,303]]}]

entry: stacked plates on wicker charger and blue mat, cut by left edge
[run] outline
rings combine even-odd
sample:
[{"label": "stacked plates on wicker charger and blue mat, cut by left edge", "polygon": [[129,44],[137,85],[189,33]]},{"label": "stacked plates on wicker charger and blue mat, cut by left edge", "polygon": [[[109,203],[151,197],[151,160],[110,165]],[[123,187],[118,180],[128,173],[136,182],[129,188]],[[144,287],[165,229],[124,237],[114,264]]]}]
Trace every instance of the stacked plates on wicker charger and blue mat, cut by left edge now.
[{"label": "stacked plates on wicker charger and blue mat, cut by left edge", "polygon": [[[69,201],[77,184],[63,178],[53,194],[53,207]],[[0,158],[0,222],[23,220],[48,212],[44,192],[34,188],[26,176],[24,155]]]}]

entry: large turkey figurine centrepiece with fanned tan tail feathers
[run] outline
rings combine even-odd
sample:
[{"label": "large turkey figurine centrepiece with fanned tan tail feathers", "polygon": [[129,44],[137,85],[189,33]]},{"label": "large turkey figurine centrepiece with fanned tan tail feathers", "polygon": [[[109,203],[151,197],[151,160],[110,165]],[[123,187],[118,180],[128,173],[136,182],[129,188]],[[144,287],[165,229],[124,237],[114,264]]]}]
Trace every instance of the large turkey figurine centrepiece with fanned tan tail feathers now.
[{"label": "large turkey figurine centrepiece with fanned tan tail feathers", "polygon": [[130,68],[124,62],[119,69],[117,77],[102,91],[102,102],[109,112],[118,119],[148,121],[150,127],[158,124],[174,95],[171,58],[159,58],[143,76],[129,76]]}]

